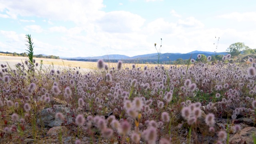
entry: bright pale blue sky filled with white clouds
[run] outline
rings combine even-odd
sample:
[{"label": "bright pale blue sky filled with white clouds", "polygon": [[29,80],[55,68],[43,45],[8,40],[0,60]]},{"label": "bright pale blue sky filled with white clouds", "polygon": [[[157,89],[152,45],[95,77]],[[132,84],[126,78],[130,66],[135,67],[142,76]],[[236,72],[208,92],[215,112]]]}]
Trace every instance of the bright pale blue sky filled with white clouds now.
[{"label": "bright pale blue sky filled with white clouds", "polygon": [[[256,48],[256,0],[0,0],[0,51],[60,57]],[[215,38],[216,36],[216,38]],[[154,44],[156,43],[156,48]]]}]

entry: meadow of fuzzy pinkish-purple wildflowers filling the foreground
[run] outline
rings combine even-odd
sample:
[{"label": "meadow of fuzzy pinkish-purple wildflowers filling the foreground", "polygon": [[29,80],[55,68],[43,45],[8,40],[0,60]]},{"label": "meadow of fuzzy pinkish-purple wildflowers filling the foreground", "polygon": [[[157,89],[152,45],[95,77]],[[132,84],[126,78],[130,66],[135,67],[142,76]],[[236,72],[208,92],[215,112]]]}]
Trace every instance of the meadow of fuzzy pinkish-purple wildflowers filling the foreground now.
[{"label": "meadow of fuzzy pinkish-purple wildflowers filling the foreground", "polygon": [[1,64],[0,142],[244,143],[232,137],[255,125],[256,64],[229,58],[130,68],[98,60],[83,73]]}]

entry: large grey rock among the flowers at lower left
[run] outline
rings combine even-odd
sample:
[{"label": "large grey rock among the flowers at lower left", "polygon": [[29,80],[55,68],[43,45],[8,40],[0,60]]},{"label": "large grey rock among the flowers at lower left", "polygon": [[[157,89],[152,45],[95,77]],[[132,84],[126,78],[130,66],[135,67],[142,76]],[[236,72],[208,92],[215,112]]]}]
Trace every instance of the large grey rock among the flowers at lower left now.
[{"label": "large grey rock among the flowers at lower left", "polygon": [[[71,124],[73,122],[73,115],[74,112],[66,105],[57,105],[57,108],[45,108],[42,110],[38,116],[37,116],[37,124],[41,126],[48,126],[48,127],[54,127],[54,126],[62,126]],[[50,112],[48,112],[50,110]],[[60,118],[55,118],[55,115],[57,112],[61,112],[65,118],[65,120],[62,120]],[[66,121],[66,122],[65,122]]]}]

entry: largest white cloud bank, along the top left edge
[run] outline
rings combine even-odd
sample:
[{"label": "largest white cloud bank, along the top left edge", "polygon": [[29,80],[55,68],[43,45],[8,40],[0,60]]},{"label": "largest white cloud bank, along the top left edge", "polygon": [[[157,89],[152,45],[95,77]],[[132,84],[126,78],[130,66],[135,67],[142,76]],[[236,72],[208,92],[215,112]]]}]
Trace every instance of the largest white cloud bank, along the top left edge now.
[{"label": "largest white cloud bank, along the top left edge", "polygon": [[[20,16],[38,16],[53,20],[88,22],[102,15],[103,0],[1,0],[0,5],[8,11],[11,18]],[[85,8],[86,6],[86,8]]]}]

